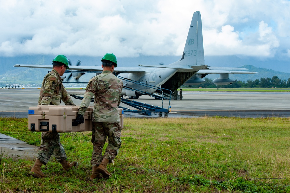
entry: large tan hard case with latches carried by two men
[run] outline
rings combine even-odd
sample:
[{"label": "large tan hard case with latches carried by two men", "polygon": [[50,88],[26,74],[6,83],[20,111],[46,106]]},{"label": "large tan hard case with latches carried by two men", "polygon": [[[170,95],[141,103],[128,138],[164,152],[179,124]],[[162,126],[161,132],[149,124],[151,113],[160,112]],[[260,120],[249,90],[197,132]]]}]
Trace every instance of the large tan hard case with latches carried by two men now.
[{"label": "large tan hard case with latches carried by two men", "polygon": [[[93,106],[88,107],[84,113],[84,123],[72,126],[72,122],[77,118],[79,106],[55,106],[38,105],[28,109],[28,129],[29,131],[42,132],[79,132],[93,130]],[[120,125],[123,128],[123,109],[118,108],[120,114]]]}]

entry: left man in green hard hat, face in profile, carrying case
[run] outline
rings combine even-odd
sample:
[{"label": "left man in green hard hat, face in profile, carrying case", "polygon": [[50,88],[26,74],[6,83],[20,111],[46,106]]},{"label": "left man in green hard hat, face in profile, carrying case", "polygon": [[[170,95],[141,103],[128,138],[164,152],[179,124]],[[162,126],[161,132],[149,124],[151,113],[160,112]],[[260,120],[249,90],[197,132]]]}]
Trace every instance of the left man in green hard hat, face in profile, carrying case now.
[{"label": "left man in green hard hat, face in profile, carrying case", "polygon": [[[44,77],[41,85],[38,105],[60,105],[61,100],[66,105],[75,105],[64,88],[60,77],[66,69],[69,69],[68,59],[64,55],[58,55],[52,62],[53,69]],[[48,163],[51,155],[55,156],[56,160],[61,163],[66,171],[78,165],[75,161],[73,163],[66,161],[66,152],[60,143],[58,133],[41,132],[41,145],[38,148],[36,161],[30,174],[38,178],[44,177],[41,166]]]}]

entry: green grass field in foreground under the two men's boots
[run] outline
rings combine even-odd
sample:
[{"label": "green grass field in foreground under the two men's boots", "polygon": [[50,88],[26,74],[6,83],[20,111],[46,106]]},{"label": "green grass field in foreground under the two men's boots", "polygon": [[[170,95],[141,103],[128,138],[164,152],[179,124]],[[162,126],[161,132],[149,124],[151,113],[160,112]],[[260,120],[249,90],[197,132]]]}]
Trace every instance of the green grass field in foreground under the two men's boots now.
[{"label": "green grass field in foreground under the two men's boots", "polygon": [[[90,132],[62,133],[68,161],[54,157],[29,175],[35,160],[0,156],[1,192],[290,192],[290,118],[125,118],[112,178],[88,181]],[[0,132],[39,146],[27,119],[0,118]],[[105,146],[106,147],[106,146]]]}]

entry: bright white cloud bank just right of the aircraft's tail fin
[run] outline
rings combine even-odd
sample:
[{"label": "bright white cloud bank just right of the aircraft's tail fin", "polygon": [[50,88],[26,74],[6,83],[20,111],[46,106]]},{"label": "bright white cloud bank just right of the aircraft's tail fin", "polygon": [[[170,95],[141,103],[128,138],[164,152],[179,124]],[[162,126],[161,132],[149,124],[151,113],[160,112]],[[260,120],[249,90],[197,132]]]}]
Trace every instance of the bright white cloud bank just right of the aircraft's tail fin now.
[{"label": "bright white cloud bank just right of the aircraft's tail fin", "polygon": [[[254,39],[251,44],[240,39],[239,32],[234,31],[233,26],[222,26],[221,32],[217,30],[204,31],[204,50],[209,55],[245,55],[272,57],[274,48],[279,46],[279,41],[264,21],[259,24],[257,34],[253,34],[249,39]],[[215,42],[213,44],[213,42]]]}]

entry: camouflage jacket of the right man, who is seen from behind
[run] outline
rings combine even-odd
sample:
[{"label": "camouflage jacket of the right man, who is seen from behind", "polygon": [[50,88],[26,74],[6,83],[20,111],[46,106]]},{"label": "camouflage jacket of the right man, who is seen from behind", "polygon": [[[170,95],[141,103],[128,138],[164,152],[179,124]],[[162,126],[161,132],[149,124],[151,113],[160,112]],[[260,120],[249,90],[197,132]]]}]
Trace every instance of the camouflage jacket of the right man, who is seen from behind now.
[{"label": "camouflage jacket of the right man, who is seen from behind", "polygon": [[120,122],[118,107],[121,103],[123,82],[113,75],[111,71],[103,71],[93,77],[86,87],[84,98],[79,107],[79,113],[84,115],[95,95],[93,121],[95,122]]}]

